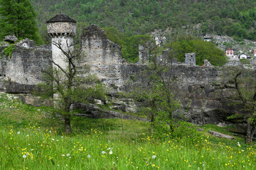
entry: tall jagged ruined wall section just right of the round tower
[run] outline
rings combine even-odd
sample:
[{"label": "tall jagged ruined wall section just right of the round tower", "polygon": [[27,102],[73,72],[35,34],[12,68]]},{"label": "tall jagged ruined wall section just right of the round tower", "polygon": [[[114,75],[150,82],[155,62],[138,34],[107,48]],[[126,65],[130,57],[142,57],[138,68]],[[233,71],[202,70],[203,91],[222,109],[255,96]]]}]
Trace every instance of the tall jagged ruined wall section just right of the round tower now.
[{"label": "tall jagged ruined wall section just right of the round tower", "polygon": [[119,87],[124,84],[121,78],[124,60],[121,57],[121,47],[107,39],[104,31],[91,25],[82,33],[82,50],[85,57],[80,60],[80,66],[90,65],[92,74],[97,75],[109,86]]}]

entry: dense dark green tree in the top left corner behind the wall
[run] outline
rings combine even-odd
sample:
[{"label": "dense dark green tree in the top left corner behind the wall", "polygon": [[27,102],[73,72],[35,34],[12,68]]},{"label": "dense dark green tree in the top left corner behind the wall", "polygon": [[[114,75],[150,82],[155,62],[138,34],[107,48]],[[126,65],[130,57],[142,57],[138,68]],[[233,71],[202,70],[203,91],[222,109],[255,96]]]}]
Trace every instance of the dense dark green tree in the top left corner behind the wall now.
[{"label": "dense dark green tree in the top left corner behind the wall", "polygon": [[0,0],[0,5],[1,38],[16,35],[18,39],[42,42],[36,27],[36,13],[29,0]]}]

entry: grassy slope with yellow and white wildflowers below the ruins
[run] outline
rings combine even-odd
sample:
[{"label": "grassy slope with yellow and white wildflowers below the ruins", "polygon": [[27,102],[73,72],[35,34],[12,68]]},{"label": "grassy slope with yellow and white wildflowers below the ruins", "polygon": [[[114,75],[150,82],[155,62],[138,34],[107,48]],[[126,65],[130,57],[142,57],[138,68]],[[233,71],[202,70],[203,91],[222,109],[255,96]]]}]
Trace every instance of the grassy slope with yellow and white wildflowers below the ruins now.
[{"label": "grassy slope with yellow and white wildflowers below the ruins", "polygon": [[197,138],[159,139],[148,123],[124,120],[124,140],[119,119],[75,118],[68,137],[58,118],[45,118],[48,108],[3,95],[0,103],[0,169],[252,169],[256,162],[242,138],[209,136],[209,129],[226,132],[215,125]]}]

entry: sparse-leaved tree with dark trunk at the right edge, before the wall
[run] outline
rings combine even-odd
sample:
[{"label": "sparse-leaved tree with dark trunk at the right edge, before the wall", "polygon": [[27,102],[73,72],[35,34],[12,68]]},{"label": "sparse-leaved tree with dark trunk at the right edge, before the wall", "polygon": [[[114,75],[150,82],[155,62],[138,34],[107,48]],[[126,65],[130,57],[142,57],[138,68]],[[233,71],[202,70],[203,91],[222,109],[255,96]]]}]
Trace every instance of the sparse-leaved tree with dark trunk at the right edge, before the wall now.
[{"label": "sparse-leaved tree with dark trunk at the right edge, before the wall", "polygon": [[250,144],[255,135],[256,128],[256,79],[255,69],[244,67],[224,67],[223,83],[234,84],[236,95],[244,106],[242,111],[235,113],[230,118],[242,118],[247,123],[246,143]]}]

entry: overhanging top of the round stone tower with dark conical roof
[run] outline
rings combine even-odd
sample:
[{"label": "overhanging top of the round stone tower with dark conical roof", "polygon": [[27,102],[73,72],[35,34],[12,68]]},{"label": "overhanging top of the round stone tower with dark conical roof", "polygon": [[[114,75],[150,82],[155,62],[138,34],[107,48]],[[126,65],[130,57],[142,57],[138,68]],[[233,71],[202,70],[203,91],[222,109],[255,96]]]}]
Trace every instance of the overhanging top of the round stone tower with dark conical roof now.
[{"label": "overhanging top of the round stone tower with dark conical roof", "polygon": [[76,21],[72,18],[69,18],[63,13],[54,16],[50,20],[46,21],[48,35],[50,37],[55,35],[71,35],[75,36],[76,34]]}]

